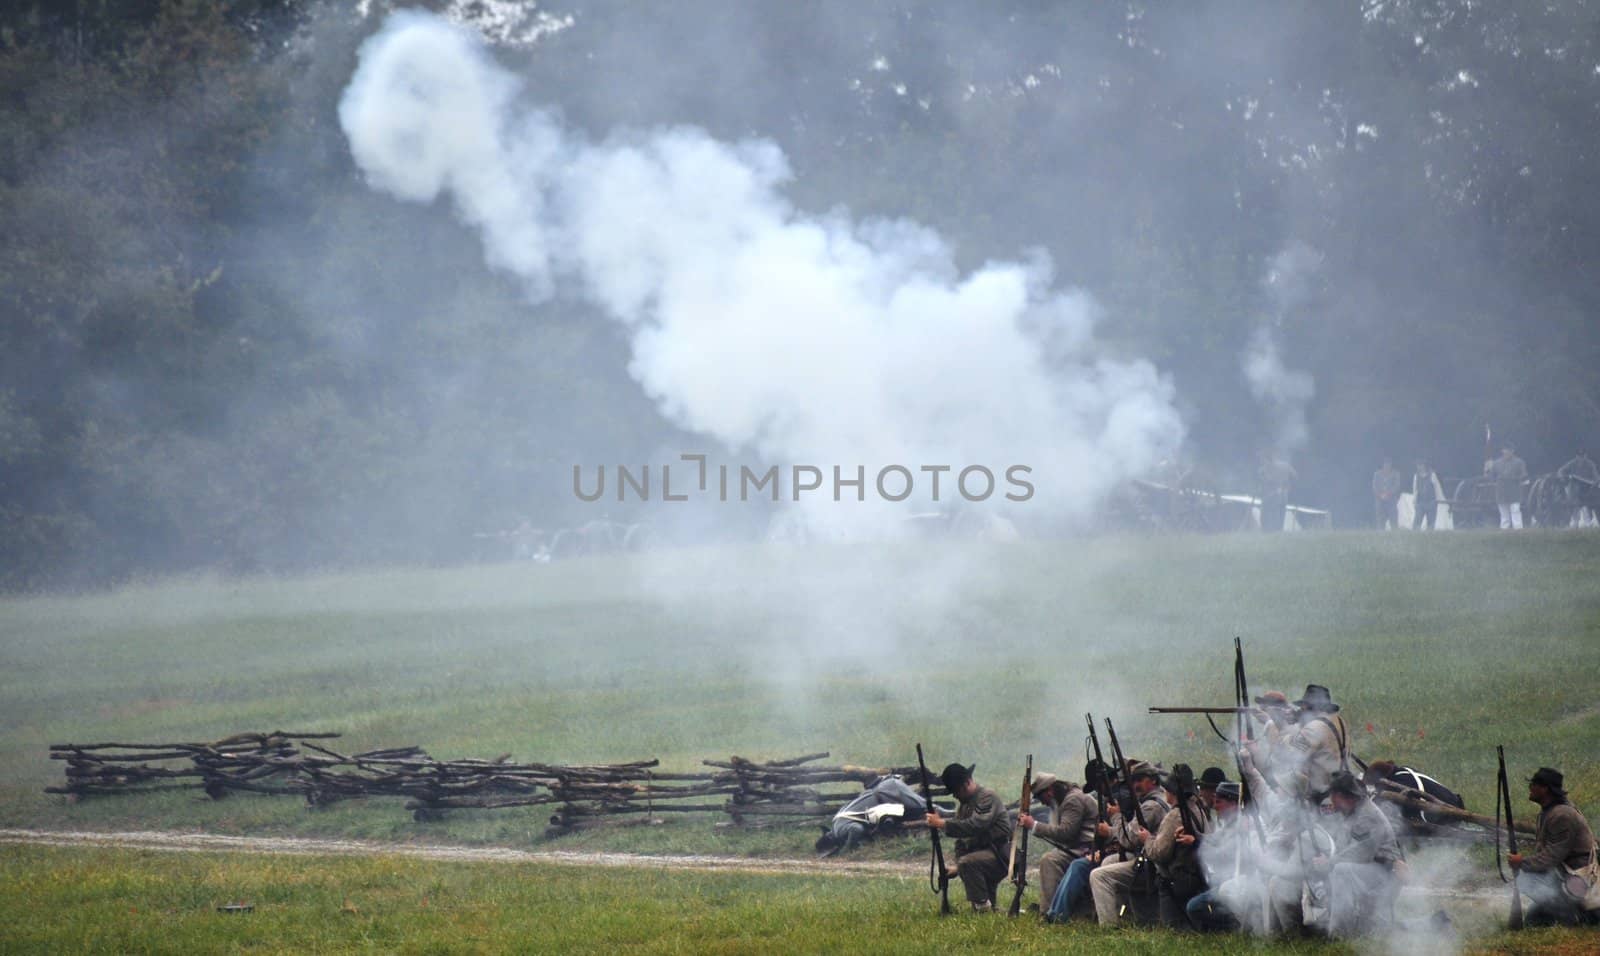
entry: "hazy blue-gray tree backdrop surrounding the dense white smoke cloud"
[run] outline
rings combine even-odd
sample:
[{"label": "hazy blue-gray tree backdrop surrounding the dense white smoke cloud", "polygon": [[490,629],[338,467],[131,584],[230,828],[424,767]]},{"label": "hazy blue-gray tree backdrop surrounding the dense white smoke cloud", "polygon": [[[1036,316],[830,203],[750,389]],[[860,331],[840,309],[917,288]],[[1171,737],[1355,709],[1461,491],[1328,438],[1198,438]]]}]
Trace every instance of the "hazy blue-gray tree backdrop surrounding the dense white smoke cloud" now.
[{"label": "hazy blue-gray tree backdrop surrounding the dense white smoke cloud", "polygon": [[[1600,440],[1590,3],[419,6],[574,137],[770,141],[800,216],[918,222],[963,275],[1046,253],[1221,489],[1277,448],[1360,526],[1386,454]],[[594,296],[368,185],[339,102],[389,10],[0,6],[6,587],[454,563],[522,518],[666,520],[574,464],[720,451]]]}]

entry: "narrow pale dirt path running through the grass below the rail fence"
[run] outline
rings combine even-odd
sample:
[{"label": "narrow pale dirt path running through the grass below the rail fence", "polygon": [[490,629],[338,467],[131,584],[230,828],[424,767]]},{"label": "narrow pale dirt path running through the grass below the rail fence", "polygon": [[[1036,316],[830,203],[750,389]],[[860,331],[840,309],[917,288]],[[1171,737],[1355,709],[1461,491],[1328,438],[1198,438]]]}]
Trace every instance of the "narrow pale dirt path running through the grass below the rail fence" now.
[{"label": "narrow pale dirt path running through the grass below the rail fence", "polygon": [[570,866],[629,866],[634,870],[723,870],[733,873],[794,873],[805,876],[918,876],[923,863],[877,860],[762,860],[750,857],[702,857],[646,854],[586,854],[573,850],[514,850],[506,847],[424,846],[365,842],[357,839],[307,839],[299,836],[218,836],[131,830],[94,833],[74,830],[0,830],[0,846],[86,846],[170,852],[240,852],[286,855],[413,857],[456,863],[560,863]]}]

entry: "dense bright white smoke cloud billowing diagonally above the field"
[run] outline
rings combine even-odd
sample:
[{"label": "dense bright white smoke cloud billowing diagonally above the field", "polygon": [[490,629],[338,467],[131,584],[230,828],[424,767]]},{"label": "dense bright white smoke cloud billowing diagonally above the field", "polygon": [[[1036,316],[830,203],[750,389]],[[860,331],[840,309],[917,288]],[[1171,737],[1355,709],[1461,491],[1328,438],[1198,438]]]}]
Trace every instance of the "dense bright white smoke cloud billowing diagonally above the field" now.
[{"label": "dense bright white smoke cloud billowing diagonally above the field", "polygon": [[448,197],[531,299],[603,307],[661,412],[730,452],[864,465],[869,497],[888,464],[1027,465],[1030,505],[1074,516],[1182,438],[1168,382],[1099,353],[1093,302],[1053,289],[1043,256],[963,273],[914,222],[805,214],[773,142],[589,142],[522,106],[477,38],[418,13],[362,48],[339,117],[374,187]]}]

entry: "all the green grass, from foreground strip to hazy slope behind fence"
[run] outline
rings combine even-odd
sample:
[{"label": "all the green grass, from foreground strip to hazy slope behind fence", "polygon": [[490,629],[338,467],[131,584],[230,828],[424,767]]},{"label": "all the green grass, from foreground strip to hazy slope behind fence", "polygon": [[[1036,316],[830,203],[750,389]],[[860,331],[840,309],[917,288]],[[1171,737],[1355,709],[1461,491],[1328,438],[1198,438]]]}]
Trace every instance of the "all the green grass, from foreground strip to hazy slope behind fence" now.
[{"label": "all the green grass, from foreground strip to hazy slope behind fence", "polygon": [[[43,793],[61,780],[48,745],[333,729],[350,751],[701,769],[816,750],[904,764],[920,740],[936,766],[976,761],[1010,791],[1027,753],[1077,775],[1086,710],[1112,716],[1130,753],[1230,766],[1202,721],[1144,708],[1229,703],[1234,635],[1256,691],[1331,686],[1368,759],[1414,763],[1488,812],[1506,743],[1514,772],[1562,767],[1600,811],[1600,536],[1328,534],[704,550],[0,601],[0,825],[802,855],[811,830],[717,817],[546,841],[536,809],[414,823],[398,799],[66,803]],[[1165,934],[928,919],[926,889],[898,878],[35,847],[0,849],[0,950],[1171,948]],[[256,911],[214,911],[234,897]]]}]

